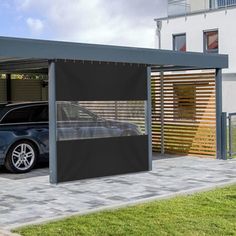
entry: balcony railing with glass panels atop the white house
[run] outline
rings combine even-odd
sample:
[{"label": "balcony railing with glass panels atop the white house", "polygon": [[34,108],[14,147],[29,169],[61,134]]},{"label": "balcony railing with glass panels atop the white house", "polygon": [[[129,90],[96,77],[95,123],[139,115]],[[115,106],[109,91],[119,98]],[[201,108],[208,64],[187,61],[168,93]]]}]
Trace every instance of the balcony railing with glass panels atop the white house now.
[{"label": "balcony railing with glass panels atop the white house", "polygon": [[197,4],[191,4],[188,0],[168,0],[168,16],[227,9],[232,6],[236,6],[236,0],[198,0]]}]

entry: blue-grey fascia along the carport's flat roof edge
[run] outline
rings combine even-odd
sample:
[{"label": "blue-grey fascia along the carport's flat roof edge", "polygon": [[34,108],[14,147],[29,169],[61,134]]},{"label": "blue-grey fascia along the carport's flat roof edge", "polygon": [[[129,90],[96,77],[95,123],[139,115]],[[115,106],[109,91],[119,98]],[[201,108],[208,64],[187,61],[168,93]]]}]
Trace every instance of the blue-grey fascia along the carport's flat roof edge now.
[{"label": "blue-grey fascia along the carport's flat roof edge", "polygon": [[138,63],[192,69],[228,67],[228,55],[0,37],[0,64],[16,59]]}]

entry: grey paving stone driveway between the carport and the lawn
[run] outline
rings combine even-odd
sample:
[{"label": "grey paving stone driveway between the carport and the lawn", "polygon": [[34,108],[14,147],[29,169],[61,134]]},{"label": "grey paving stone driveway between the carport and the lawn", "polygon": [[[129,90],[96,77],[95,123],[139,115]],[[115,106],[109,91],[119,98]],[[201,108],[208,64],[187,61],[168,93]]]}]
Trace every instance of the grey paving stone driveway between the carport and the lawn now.
[{"label": "grey paving stone driveway between the carport and the lawn", "polygon": [[236,183],[236,160],[178,157],[153,171],[50,185],[48,169],[0,172],[0,228]]}]

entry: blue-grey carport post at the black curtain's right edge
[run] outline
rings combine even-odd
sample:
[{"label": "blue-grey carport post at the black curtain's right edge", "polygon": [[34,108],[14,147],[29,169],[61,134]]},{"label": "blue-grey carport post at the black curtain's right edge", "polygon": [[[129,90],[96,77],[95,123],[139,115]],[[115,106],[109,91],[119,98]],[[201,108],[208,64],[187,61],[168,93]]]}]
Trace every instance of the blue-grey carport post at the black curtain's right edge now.
[{"label": "blue-grey carport post at the black curtain's right edge", "polygon": [[146,132],[148,134],[148,170],[152,170],[152,91],[151,67],[147,68]]}]

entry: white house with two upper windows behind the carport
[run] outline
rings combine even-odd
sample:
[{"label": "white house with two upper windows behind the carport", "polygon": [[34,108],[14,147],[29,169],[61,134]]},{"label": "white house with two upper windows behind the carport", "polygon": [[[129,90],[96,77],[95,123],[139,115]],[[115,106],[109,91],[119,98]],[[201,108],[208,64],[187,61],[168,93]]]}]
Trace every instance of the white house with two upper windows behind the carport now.
[{"label": "white house with two upper windows behind the carport", "polygon": [[223,111],[236,112],[236,0],[169,0],[161,48],[229,55],[223,70]]}]

